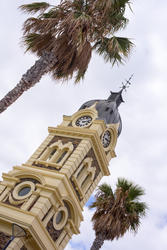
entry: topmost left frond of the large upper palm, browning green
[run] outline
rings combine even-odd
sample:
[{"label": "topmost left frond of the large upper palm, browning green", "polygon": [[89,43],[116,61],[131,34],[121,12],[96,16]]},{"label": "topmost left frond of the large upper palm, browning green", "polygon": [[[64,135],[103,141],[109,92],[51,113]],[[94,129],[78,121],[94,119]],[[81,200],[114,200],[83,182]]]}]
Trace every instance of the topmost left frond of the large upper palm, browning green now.
[{"label": "topmost left frond of the large upper palm, browning green", "polygon": [[19,8],[27,13],[35,14],[36,12],[43,12],[50,7],[49,3],[46,2],[34,2],[31,4],[23,4]]}]

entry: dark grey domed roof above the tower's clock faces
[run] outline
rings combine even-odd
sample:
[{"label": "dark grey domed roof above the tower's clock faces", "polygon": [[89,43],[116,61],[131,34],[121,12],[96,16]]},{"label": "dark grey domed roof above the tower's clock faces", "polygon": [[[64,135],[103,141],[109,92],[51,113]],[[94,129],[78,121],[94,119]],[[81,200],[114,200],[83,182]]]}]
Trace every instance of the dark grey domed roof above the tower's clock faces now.
[{"label": "dark grey domed roof above the tower's clock faces", "polygon": [[79,110],[89,108],[96,103],[96,110],[98,112],[98,120],[104,120],[106,124],[118,123],[118,135],[122,130],[122,121],[118,112],[118,107],[124,102],[122,99],[122,89],[119,92],[111,92],[106,100],[91,100],[82,104]]}]

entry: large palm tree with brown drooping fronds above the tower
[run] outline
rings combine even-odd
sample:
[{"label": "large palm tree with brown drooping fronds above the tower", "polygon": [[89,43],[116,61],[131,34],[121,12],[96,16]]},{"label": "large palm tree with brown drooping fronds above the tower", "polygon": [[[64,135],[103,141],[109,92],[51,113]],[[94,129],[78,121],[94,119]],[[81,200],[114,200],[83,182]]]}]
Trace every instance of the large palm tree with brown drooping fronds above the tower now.
[{"label": "large palm tree with brown drooping fronds above the tower", "polygon": [[46,73],[67,80],[75,74],[79,82],[87,70],[92,50],[106,61],[122,63],[133,46],[114,33],[126,27],[125,9],[130,0],[61,0],[57,6],[34,2],[20,9],[35,17],[23,26],[26,51],[39,59],[1,101],[0,113]]}]

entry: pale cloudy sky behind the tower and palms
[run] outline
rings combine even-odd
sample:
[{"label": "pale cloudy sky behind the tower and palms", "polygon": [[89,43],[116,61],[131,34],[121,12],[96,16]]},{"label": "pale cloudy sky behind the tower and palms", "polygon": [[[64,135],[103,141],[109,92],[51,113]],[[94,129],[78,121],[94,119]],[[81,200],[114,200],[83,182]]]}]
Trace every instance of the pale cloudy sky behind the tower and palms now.
[{"label": "pale cloudy sky behind the tower and palms", "polygon": [[[36,0],[37,1],[37,0]],[[24,53],[22,24],[27,16],[18,6],[30,0],[1,0],[0,10],[0,97],[20,80],[37,58]],[[57,3],[58,1],[49,1]],[[72,115],[82,103],[106,99],[110,90],[119,91],[122,82],[134,74],[132,85],[123,94],[123,129],[116,146],[117,157],[109,165],[111,175],[103,177],[113,189],[118,177],[125,177],[145,189],[149,210],[136,235],[126,233],[119,240],[106,241],[102,250],[167,249],[167,1],[132,2],[127,11],[129,25],[120,33],[132,38],[135,47],[126,64],[119,67],[93,55],[83,82],[58,83],[44,76],[0,115],[0,172],[8,172],[32,155],[47,136],[48,126],[57,126],[63,115]],[[65,250],[88,250],[95,237],[90,211],[84,208],[80,234],[74,235]]]}]

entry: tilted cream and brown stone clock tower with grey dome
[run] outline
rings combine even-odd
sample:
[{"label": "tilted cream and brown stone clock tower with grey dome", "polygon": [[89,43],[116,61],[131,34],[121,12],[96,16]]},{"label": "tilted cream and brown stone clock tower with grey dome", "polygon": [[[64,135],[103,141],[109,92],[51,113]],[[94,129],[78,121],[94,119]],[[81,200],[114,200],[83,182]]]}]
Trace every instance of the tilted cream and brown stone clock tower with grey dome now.
[{"label": "tilted cream and brown stone clock tower with grey dome", "polygon": [[[0,249],[61,250],[79,233],[83,206],[110,174],[122,128],[121,93],[88,101],[63,116],[27,162],[3,173]],[[24,237],[12,236],[13,225],[24,230]]]}]

